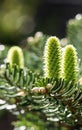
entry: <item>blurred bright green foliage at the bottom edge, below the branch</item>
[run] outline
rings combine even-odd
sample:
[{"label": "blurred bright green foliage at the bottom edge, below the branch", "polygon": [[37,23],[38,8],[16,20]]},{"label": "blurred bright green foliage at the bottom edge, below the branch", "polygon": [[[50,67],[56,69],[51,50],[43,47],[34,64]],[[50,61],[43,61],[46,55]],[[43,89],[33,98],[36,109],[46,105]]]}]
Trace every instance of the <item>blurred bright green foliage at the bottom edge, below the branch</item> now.
[{"label": "blurred bright green foliage at the bottom edge, below the branch", "polygon": [[[34,116],[33,116],[34,115]],[[32,118],[33,117],[33,118]],[[18,128],[26,129],[26,130],[44,130],[46,129],[46,125],[43,123],[43,120],[39,118],[36,113],[25,113],[18,116],[19,121],[13,122],[13,125],[15,125],[15,128],[18,130]]]}]

